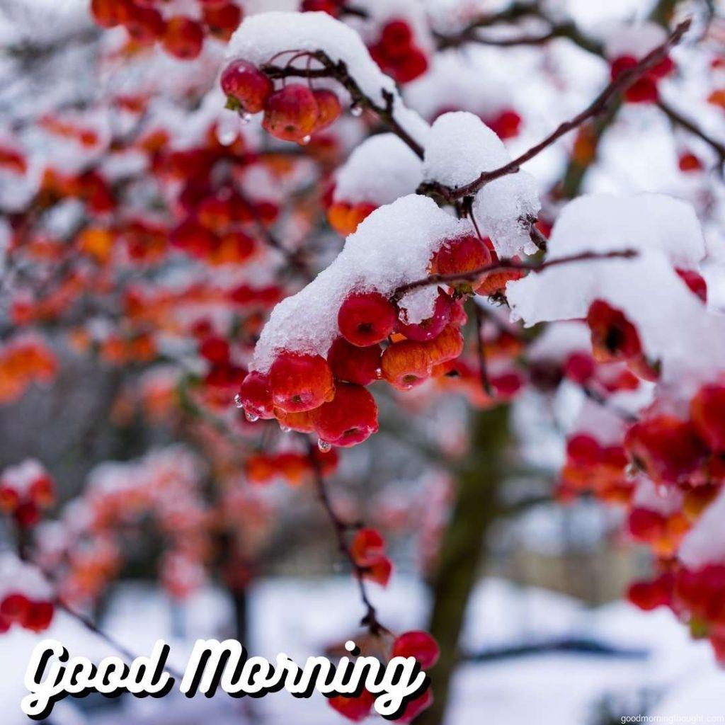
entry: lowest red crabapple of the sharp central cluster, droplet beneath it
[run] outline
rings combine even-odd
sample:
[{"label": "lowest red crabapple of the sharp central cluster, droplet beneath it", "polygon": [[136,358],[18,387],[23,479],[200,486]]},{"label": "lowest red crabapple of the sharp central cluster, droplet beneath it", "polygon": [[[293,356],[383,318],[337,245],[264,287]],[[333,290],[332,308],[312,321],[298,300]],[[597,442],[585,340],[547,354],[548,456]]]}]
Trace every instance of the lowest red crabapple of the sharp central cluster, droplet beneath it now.
[{"label": "lowest red crabapple of the sharp central cluster, droplet beneath it", "polygon": [[378,406],[361,385],[338,383],[331,402],[320,405],[312,415],[320,440],[350,447],[378,432]]}]

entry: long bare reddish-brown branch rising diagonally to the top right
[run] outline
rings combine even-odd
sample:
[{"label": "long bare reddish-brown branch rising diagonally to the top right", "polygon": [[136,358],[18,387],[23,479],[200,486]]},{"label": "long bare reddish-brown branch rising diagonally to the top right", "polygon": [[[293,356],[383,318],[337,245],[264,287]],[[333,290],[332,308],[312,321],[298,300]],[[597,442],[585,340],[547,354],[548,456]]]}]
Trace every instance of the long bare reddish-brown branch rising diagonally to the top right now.
[{"label": "long bare reddish-brown branch rising diagonally to the top right", "polygon": [[419,194],[433,194],[439,198],[444,199],[447,203],[452,204],[457,199],[463,196],[473,196],[479,189],[483,188],[489,181],[501,178],[502,176],[516,173],[521,165],[535,156],[540,154],[544,149],[554,144],[559,138],[569,133],[569,131],[578,128],[582,123],[589,120],[590,118],[600,115],[608,109],[610,102],[616,99],[618,94],[629,88],[637,78],[643,73],[649,70],[653,65],[657,65],[666,55],[672,46],[679,43],[682,40],[682,36],[687,32],[692,20],[687,19],[681,22],[674,30],[673,33],[667,38],[667,40],[660,46],[650,51],[644,58],[642,58],[637,65],[632,66],[629,70],[621,73],[621,75],[613,80],[596,98],[591,104],[579,114],[574,116],[571,120],[561,123],[552,133],[549,134],[538,144],[532,146],[531,149],[516,157],[512,161],[508,162],[497,169],[491,171],[481,172],[478,178],[474,179],[470,183],[464,186],[450,187],[446,186],[437,181],[424,181],[421,186],[418,187]]}]

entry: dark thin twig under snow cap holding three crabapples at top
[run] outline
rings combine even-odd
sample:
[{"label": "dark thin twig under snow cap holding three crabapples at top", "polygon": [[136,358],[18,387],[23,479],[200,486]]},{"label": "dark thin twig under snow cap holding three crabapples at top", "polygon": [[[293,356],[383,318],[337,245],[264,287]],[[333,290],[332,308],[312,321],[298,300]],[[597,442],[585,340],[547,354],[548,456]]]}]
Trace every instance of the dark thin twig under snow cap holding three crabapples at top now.
[{"label": "dark thin twig under snow cap holding three crabapples at top", "polygon": [[407,144],[418,158],[423,158],[423,146],[415,141],[413,136],[400,125],[394,117],[395,96],[390,91],[382,91],[385,101],[384,105],[376,103],[370,96],[363,93],[363,89],[357,84],[347,70],[347,64],[339,60],[334,62],[324,51],[310,53],[310,58],[316,60],[322,67],[302,68],[278,65],[263,65],[262,71],[268,78],[333,78],[350,94],[353,107],[368,109],[375,113],[395,133],[398,138]]}]

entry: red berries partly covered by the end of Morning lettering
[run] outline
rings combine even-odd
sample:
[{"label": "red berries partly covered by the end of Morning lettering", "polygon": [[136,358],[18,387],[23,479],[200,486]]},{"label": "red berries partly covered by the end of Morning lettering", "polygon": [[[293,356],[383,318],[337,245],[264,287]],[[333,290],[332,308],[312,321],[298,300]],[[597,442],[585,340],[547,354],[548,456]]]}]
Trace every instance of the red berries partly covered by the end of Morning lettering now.
[{"label": "red berries partly covered by the end of Morning lettering", "polygon": [[[413,630],[400,634],[394,640],[390,657],[414,657],[418,660],[421,669],[428,670],[438,661],[440,651],[436,640],[431,637],[428,632]],[[342,716],[353,722],[362,722],[370,716],[370,711],[375,704],[375,695],[364,689],[357,697],[345,697],[337,695],[328,700],[331,708],[334,708]],[[413,722],[426,708],[433,703],[433,695],[428,688],[423,695],[410,700],[406,705],[402,716],[396,718],[392,722],[399,724],[407,724]]]}]

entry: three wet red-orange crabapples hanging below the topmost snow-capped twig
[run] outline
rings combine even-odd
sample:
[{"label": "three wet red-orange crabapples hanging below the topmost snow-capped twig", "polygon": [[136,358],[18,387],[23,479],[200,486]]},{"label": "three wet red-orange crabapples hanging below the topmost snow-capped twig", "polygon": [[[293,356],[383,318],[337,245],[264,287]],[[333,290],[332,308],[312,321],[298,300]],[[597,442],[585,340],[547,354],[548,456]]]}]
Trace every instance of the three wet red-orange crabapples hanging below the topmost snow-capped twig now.
[{"label": "three wet red-orange crabapples hanging below the topmost snow-capped twig", "polygon": [[286,83],[275,90],[267,75],[242,59],[225,68],[220,83],[228,108],[242,114],[264,112],[262,126],[281,141],[307,144],[312,133],[334,123],[342,111],[338,97],[328,88]]}]

